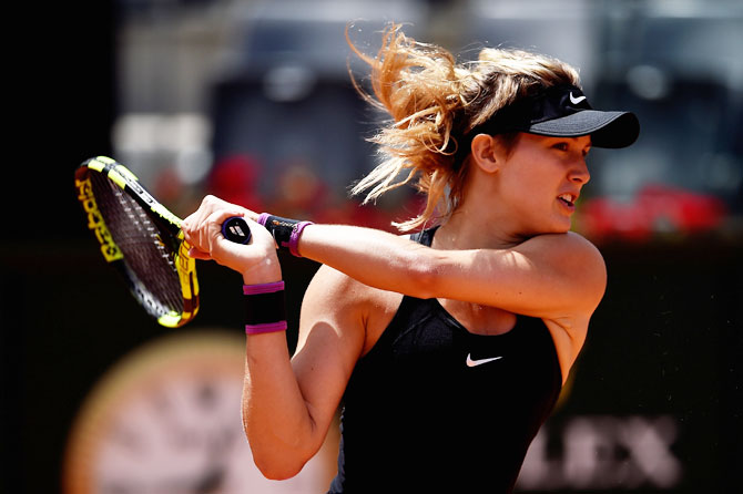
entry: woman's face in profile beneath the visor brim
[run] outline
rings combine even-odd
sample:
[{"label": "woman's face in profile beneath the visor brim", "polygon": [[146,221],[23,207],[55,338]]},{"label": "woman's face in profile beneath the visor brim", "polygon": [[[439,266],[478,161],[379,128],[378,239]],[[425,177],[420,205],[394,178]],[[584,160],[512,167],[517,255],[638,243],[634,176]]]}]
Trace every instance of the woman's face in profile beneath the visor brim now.
[{"label": "woman's face in profile beneath the visor brim", "polygon": [[500,194],[523,235],[566,233],[590,179],[591,137],[520,134],[500,167]]}]

